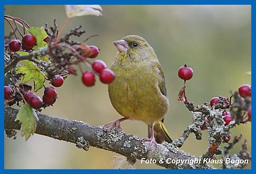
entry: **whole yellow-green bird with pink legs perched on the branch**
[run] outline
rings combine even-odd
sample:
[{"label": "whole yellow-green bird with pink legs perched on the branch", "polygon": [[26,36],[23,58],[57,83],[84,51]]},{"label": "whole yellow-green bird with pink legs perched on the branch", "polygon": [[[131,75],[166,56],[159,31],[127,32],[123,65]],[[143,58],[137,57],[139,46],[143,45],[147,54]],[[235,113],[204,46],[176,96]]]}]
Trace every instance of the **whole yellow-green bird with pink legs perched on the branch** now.
[{"label": "whole yellow-green bird with pink legs perched on the branch", "polygon": [[145,141],[151,143],[172,142],[164,126],[164,117],[169,102],[166,97],[163,69],[153,48],[137,35],[129,35],[115,41],[118,53],[110,69],[115,80],[108,85],[113,107],[124,116],[109,123],[110,129],[121,128],[120,122],[130,119],[143,121],[148,125]]}]

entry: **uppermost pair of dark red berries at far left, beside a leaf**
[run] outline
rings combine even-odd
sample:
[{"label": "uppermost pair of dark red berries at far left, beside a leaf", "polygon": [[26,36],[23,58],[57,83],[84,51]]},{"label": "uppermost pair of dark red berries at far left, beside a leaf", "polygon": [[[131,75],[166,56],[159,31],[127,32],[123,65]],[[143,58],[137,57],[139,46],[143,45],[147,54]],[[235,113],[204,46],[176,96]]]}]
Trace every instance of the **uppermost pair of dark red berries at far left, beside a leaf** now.
[{"label": "uppermost pair of dark red berries at far left, beside a leaf", "polygon": [[33,46],[35,45],[36,45],[36,38],[32,34],[25,34],[22,37],[22,42],[20,40],[15,39],[9,42],[8,44],[9,49],[12,52],[17,52],[17,51],[20,51],[21,49],[27,52],[32,50]]}]

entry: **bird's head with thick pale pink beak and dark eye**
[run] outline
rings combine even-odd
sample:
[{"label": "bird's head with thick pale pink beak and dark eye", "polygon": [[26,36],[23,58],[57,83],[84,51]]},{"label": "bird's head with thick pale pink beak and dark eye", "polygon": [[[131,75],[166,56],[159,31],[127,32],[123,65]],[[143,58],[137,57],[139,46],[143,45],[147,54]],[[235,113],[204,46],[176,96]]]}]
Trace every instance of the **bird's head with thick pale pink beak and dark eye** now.
[{"label": "bird's head with thick pale pink beak and dark eye", "polygon": [[113,42],[113,44],[116,45],[121,54],[127,55],[130,59],[144,59],[150,53],[154,53],[147,41],[137,35],[125,36],[120,41]]}]

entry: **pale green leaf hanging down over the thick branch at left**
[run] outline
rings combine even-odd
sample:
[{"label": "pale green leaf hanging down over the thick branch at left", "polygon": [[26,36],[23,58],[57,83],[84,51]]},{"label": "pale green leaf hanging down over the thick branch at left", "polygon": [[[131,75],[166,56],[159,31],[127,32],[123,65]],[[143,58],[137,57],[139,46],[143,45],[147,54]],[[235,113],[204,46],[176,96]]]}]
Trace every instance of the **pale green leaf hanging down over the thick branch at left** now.
[{"label": "pale green leaf hanging down over the thick branch at left", "polygon": [[28,103],[25,103],[18,111],[15,121],[17,120],[21,122],[21,136],[25,137],[25,140],[29,139],[31,134],[35,133],[36,121],[38,121],[34,109]]}]

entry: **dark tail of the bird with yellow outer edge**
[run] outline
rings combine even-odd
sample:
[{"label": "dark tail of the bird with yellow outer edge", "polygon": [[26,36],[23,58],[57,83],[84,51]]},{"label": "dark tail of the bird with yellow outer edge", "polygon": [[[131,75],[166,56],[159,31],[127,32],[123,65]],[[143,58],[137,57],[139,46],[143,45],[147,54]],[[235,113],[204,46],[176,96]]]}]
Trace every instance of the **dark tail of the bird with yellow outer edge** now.
[{"label": "dark tail of the bird with yellow outer edge", "polygon": [[[148,127],[148,137],[152,136],[151,127]],[[173,140],[170,138],[169,133],[167,132],[164,122],[159,121],[154,125],[154,136],[157,143],[162,143],[164,141],[171,143]]]}]

